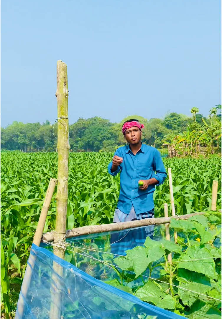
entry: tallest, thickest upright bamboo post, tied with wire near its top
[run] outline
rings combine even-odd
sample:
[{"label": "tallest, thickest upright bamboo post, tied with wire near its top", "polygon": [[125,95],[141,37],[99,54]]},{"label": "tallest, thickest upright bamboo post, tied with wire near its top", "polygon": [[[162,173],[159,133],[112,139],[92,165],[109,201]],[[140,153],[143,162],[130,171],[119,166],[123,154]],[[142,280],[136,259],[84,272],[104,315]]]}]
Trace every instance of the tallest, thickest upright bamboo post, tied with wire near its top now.
[{"label": "tallest, thickest upright bamboo post, tied with wire near its top", "polygon": [[[69,121],[68,121],[68,79],[67,64],[57,61],[57,151],[58,151],[58,177],[57,177],[57,214],[55,224],[54,243],[62,243],[66,237],[66,214],[68,201],[68,159],[69,159]],[[64,259],[65,251],[61,245],[53,247],[54,255]],[[53,261],[50,319],[60,318],[61,315],[61,287],[59,278],[63,275],[63,268]]]}]

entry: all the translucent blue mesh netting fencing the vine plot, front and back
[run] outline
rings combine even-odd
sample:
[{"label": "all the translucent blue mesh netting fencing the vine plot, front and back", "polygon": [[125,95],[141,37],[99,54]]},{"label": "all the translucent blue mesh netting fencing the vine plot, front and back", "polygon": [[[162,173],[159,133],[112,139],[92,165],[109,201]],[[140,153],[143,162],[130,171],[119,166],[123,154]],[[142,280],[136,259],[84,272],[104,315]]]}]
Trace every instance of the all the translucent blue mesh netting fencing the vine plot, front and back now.
[{"label": "all the translucent blue mesh netting fencing the vine plot, front and back", "polygon": [[[183,237],[183,233],[179,235]],[[148,237],[162,240],[165,226],[66,239],[65,260],[53,255],[50,243],[32,245],[27,266],[31,272],[23,280],[16,318],[181,318],[133,294],[149,278],[158,284],[162,269],[158,264],[165,262],[163,256],[155,262],[154,271],[147,268],[137,278],[132,271],[123,272],[115,262],[115,258],[126,256],[127,249],[143,246]],[[168,284],[162,281],[161,285]]]}]

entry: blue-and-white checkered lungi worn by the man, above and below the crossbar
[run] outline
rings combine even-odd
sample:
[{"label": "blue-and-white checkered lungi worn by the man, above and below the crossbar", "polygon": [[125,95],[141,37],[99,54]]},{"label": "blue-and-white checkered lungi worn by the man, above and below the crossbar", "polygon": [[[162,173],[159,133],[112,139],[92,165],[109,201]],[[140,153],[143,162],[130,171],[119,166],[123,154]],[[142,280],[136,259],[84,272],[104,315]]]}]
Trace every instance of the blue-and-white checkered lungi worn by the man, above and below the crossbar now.
[{"label": "blue-and-white checkered lungi worn by the man, above and below the crossbar", "polygon": [[[154,208],[151,211],[146,211],[142,214],[136,215],[134,207],[132,206],[129,215],[123,213],[119,209],[115,210],[113,223],[138,220],[143,218],[154,218]],[[132,228],[130,230],[119,231],[115,234],[111,234],[111,253],[126,256],[127,249],[133,249],[136,246],[142,246],[149,236],[153,237],[153,225]]]}]

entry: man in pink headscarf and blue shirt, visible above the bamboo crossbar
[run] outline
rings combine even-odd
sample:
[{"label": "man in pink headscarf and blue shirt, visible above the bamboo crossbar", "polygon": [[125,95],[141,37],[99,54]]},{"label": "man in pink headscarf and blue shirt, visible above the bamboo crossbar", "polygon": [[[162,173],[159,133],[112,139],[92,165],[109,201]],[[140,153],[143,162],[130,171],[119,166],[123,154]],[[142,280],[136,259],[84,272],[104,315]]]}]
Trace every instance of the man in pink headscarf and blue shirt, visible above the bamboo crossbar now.
[{"label": "man in pink headscarf and blue shirt, visible above the bamboo crossbar", "polygon": [[[143,127],[136,119],[124,122],[122,133],[129,145],[119,147],[108,165],[112,176],[120,172],[120,193],[114,223],[153,218],[155,185],[162,184],[167,176],[159,151],[141,142]],[[138,187],[138,182],[143,182],[143,185]]]}]

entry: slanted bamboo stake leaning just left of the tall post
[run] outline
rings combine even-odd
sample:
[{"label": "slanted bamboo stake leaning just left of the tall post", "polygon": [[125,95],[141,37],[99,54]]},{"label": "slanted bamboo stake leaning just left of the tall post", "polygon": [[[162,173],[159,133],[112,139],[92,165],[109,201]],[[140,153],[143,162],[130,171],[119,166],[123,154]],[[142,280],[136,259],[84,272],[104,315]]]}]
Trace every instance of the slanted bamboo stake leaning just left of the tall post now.
[{"label": "slanted bamboo stake leaning just left of the tall post", "polygon": [[[36,228],[36,231],[34,234],[33,243],[36,246],[39,246],[40,242],[41,242],[42,232],[43,232],[43,229],[45,226],[46,217],[47,217],[47,214],[49,211],[49,206],[50,206],[50,203],[52,200],[52,195],[54,193],[56,183],[57,183],[56,178],[50,178],[49,186],[48,186],[48,189],[47,189],[47,192],[45,195],[45,200],[44,200],[44,203],[42,206],[42,211],[40,213],[38,225],[37,225],[37,228]],[[32,276],[32,271],[34,268],[35,260],[36,260],[36,256],[30,256],[28,263],[27,263],[25,275],[23,278],[22,286],[21,286],[21,296],[22,297],[19,300],[18,308],[17,308],[17,313],[18,313],[19,318],[23,317],[24,300],[26,299],[28,288],[29,288],[30,283],[31,283],[31,276]]]}]

